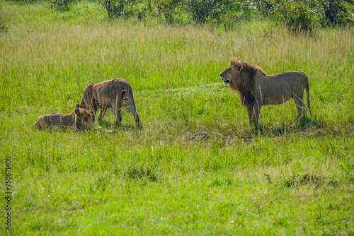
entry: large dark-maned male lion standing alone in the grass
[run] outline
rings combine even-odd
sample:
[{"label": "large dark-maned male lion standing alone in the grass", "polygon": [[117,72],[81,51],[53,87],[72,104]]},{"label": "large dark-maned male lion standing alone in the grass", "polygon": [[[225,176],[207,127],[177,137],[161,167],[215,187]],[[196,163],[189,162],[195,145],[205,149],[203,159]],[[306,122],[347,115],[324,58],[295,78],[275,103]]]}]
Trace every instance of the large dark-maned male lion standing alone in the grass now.
[{"label": "large dark-maned male lion standing alone in the grass", "polygon": [[307,106],[309,105],[309,81],[307,76],[299,71],[287,71],[267,76],[258,66],[238,59],[230,59],[222,73],[224,85],[229,85],[241,100],[241,105],[247,107],[249,124],[257,125],[259,113],[263,105],[277,105],[294,99],[297,108],[297,119],[307,114],[304,105],[304,89],[306,88]]}]

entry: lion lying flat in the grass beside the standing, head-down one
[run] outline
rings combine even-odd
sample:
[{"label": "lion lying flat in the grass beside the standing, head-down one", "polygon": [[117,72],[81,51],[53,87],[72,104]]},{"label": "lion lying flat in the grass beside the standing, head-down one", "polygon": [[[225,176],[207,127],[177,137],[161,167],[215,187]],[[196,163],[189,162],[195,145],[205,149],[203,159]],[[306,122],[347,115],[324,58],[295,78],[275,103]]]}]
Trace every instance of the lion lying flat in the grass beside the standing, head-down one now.
[{"label": "lion lying flat in the grass beside the standing, head-down one", "polygon": [[70,114],[62,114],[52,112],[40,116],[35,120],[33,127],[45,129],[58,127],[60,129],[86,129],[91,128],[93,122],[93,113],[84,108],[76,108],[74,112]]}]

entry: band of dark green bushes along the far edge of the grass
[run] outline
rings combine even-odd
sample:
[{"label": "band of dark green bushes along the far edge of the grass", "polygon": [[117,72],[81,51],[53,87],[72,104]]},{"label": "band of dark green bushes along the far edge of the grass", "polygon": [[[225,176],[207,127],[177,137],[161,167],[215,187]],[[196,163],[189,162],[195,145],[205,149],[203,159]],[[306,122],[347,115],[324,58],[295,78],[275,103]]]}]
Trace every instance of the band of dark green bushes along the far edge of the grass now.
[{"label": "band of dark green bushes along the far edge of the grass", "polygon": [[[55,8],[70,1],[50,0]],[[167,24],[195,23],[208,28],[235,28],[243,15],[272,18],[293,33],[312,32],[316,25],[342,25],[350,20],[354,0],[100,0],[108,17],[161,18]]]}]

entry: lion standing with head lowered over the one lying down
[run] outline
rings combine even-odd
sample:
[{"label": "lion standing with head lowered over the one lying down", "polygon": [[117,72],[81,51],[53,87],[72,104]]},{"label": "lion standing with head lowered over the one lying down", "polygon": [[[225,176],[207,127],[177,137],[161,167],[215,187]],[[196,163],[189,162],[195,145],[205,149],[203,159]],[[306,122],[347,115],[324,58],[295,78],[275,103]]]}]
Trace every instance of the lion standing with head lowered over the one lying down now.
[{"label": "lion standing with head lowered over the one lying down", "polygon": [[115,114],[115,122],[120,123],[122,121],[120,110],[122,109],[123,100],[125,100],[127,107],[132,112],[135,123],[139,124],[139,115],[135,109],[132,87],[122,78],[113,78],[101,83],[89,83],[84,89],[84,95],[82,95],[79,107],[92,110],[93,116],[96,115],[98,108],[101,108],[98,113],[98,120],[103,119],[107,108],[112,107]]}]

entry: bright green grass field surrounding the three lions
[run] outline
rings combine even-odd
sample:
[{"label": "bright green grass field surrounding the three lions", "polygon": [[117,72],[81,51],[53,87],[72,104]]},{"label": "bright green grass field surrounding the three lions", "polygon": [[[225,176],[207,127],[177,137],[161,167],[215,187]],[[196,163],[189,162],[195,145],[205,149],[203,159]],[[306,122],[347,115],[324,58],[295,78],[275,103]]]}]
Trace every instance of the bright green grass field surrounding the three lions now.
[{"label": "bright green grass field surrounding the three lions", "polygon": [[[354,235],[354,30],[290,35],[251,20],[229,33],[105,20],[0,1],[1,218],[11,157],[11,232],[1,235]],[[313,116],[293,101],[246,109],[219,78],[230,57],[303,71]],[[127,111],[101,131],[39,131],[88,83],[125,78]]]}]

